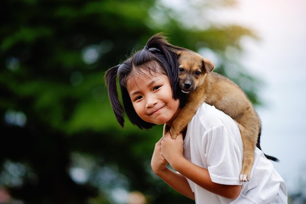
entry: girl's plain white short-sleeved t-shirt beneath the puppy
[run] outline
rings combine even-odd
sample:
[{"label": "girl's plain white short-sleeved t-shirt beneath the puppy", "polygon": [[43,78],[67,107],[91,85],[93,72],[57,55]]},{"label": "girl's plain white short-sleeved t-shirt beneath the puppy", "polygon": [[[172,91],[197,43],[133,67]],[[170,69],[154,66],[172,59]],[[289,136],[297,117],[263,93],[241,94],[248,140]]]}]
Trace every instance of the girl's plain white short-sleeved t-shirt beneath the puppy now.
[{"label": "girl's plain white short-sleeved t-shirt beneath the puppy", "polygon": [[203,103],[188,123],[184,157],[207,168],[213,182],[242,185],[242,190],[237,199],[231,200],[211,193],[187,179],[197,204],[287,204],[284,180],[258,148],[255,150],[250,181],[239,181],[242,149],[236,122],[214,106]]}]

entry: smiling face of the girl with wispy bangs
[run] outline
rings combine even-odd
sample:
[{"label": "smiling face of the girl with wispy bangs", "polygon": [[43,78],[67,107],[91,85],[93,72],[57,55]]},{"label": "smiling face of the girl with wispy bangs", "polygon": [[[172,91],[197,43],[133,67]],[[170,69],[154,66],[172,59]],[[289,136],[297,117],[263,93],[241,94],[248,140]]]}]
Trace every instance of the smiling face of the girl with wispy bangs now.
[{"label": "smiling face of the girl with wispy bangs", "polygon": [[127,90],[138,116],[146,122],[171,126],[179,112],[168,76],[141,70],[127,81]]}]

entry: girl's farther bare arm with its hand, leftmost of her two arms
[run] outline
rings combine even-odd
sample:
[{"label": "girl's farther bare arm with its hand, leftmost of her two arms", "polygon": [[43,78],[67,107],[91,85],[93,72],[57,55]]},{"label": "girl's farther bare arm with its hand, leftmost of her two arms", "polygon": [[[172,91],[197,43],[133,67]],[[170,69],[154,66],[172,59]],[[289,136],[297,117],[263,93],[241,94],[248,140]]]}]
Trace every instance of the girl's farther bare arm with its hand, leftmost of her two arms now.
[{"label": "girl's farther bare arm with its hand, leftmost of her two arms", "polygon": [[195,194],[192,192],[186,178],[167,167],[168,161],[161,153],[162,140],[163,137],[155,144],[153,156],[151,159],[151,167],[153,172],[177,192],[195,200]]}]

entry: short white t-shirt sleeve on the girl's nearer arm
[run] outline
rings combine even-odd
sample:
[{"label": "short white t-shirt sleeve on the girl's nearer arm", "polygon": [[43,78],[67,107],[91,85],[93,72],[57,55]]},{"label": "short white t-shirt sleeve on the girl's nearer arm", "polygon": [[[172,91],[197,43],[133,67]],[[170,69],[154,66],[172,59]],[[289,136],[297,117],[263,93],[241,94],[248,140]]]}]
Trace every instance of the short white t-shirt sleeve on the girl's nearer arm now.
[{"label": "short white t-shirt sleeve on the girl's nearer arm", "polygon": [[239,175],[242,166],[241,149],[224,126],[206,131],[202,140],[210,178],[215,183],[241,185]]}]

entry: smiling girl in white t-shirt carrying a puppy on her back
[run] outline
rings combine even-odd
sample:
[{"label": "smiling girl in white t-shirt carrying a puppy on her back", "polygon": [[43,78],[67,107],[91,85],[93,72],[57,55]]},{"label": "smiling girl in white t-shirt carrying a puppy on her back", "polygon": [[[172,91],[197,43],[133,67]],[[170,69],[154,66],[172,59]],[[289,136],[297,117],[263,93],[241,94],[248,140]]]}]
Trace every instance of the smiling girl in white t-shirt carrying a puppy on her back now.
[{"label": "smiling girl in white t-shirt carrying a puppy on her back", "polygon": [[[177,87],[177,56],[157,34],[122,65],[106,72],[109,99],[119,124],[124,126],[116,77],[124,109],[131,123],[149,129],[172,121],[184,105]],[[153,172],[197,204],[286,204],[286,185],[272,163],[256,149],[251,180],[240,182],[242,140],[238,125],[225,113],[203,103],[184,136],[168,132],[156,144]],[[167,167],[170,164],[175,171]]]}]

